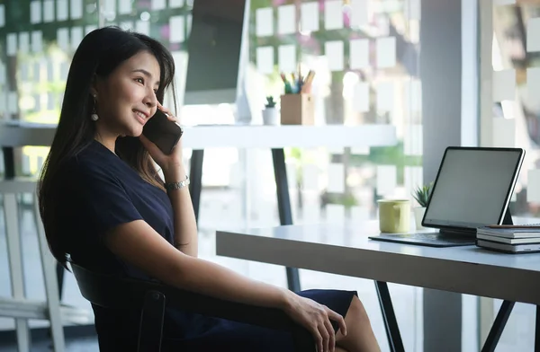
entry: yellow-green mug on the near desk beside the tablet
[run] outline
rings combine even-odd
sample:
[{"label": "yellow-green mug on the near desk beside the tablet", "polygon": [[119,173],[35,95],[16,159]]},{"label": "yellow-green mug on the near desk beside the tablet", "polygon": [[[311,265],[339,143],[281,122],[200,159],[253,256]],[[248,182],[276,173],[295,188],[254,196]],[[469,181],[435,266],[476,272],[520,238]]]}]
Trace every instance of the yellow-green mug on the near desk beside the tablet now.
[{"label": "yellow-green mug on the near desk beside the tablet", "polygon": [[408,233],[410,230],[410,201],[382,199],[379,203],[379,229],[382,233]]}]

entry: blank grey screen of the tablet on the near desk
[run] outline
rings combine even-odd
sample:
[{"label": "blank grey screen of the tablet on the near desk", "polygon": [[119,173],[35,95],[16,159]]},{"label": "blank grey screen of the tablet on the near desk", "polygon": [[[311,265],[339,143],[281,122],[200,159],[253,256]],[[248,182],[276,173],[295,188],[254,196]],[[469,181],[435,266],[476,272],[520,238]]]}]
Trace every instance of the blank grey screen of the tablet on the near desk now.
[{"label": "blank grey screen of the tablet on the near desk", "polygon": [[498,224],[520,151],[449,149],[427,209],[425,224]]}]

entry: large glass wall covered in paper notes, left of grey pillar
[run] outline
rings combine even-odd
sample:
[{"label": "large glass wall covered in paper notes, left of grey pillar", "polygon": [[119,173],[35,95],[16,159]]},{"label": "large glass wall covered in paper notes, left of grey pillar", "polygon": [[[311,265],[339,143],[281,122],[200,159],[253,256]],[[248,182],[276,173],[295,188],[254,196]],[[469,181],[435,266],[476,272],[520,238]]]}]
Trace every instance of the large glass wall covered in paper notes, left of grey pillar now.
[{"label": "large glass wall covered in paper notes, left of grey pillar", "polygon": [[[411,191],[430,181],[422,180],[420,0],[247,1],[247,65],[241,67],[245,78],[238,88],[247,92],[243,103],[254,124],[261,121],[266,96],[274,96],[279,106],[280,74],[313,70],[316,124],[392,126],[398,136],[397,145],[379,147],[287,148],[294,222],[369,220],[377,216],[379,198],[412,200]],[[172,51],[182,101],[192,6],[193,0],[0,1],[0,119],[57,123],[76,46],[88,31],[111,24],[149,34]],[[189,125],[233,123],[237,109],[233,104],[185,105],[178,115]],[[35,176],[47,153],[46,147],[31,146],[16,151],[17,174]],[[284,268],[219,258],[214,249],[214,232],[221,226],[279,224],[270,152],[205,150],[202,185],[201,257],[285,286]],[[31,236],[30,218],[23,216]],[[40,269],[27,248],[25,268],[32,277],[30,271]],[[2,258],[0,268],[7,270]],[[1,289],[9,290],[7,275],[0,277],[7,282]],[[72,278],[66,279],[65,301],[85,304]],[[301,280],[302,288],[357,289],[387,350],[373,282],[304,270]],[[33,292],[43,295],[40,287]],[[405,346],[419,350],[421,290],[391,285],[391,292]]]}]

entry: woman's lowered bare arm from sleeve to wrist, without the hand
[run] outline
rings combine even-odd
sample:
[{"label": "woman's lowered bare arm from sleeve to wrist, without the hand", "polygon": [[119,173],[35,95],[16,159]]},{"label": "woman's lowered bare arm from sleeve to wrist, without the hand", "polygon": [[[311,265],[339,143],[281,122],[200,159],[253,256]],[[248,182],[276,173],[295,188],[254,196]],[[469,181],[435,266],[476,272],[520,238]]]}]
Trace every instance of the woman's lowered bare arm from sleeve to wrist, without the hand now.
[{"label": "woman's lowered bare arm from sleeve to wrist, without the hand", "polygon": [[[184,189],[180,190],[178,193],[184,192]],[[176,197],[179,200],[184,198]],[[288,290],[243,277],[210,261],[176,251],[142,220],[117,226],[105,236],[105,243],[122,260],[170,286],[265,307],[285,309],[289,302],[291,293]]]}]

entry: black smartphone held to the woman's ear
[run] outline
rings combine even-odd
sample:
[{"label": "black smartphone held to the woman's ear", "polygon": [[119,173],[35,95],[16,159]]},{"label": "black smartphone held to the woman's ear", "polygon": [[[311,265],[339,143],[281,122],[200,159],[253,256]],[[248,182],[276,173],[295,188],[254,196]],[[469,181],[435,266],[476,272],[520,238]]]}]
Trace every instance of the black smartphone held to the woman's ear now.
[{"label": "black smartphone held to the woman's ear", "polygon": [[142,134],[167,155],[173,153],[173,148],[183,133],[184,130],[175,121],[168,119],[165,112],[159,109],[142,128]]}]

